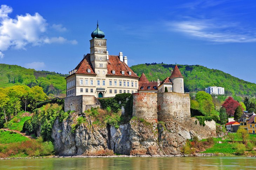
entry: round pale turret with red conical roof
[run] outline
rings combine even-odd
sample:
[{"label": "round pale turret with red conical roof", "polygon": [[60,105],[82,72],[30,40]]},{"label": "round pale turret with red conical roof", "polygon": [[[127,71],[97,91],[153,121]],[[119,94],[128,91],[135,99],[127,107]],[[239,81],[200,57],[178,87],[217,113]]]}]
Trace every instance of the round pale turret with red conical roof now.
[{"label": "round pale turret with red conical roof", "polygon": [[184,81],[183,76],[178,69],[177,64],[175,65],[173,72],[170,76],[171,82],[173,82],[173,92],[184,93]]}]

